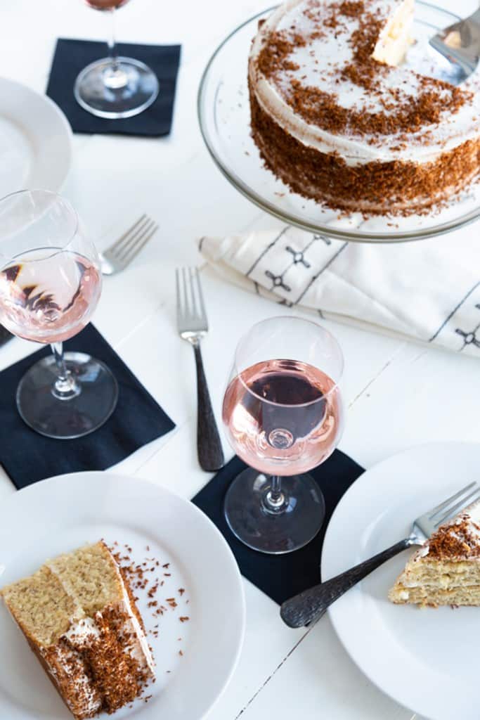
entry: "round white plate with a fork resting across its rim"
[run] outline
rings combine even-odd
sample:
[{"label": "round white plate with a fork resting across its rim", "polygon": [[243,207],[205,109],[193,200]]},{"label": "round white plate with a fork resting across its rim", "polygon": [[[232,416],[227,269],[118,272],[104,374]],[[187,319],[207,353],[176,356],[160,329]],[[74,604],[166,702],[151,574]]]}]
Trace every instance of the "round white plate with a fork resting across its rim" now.
[{"label": "round white plate with a fork resting across its rim", "polygon": [[[480,445],[430,444],[381,462],[340,501],[322,554],[328,579],[409,533],[413,518],[472,480]],[[340,598],[330,618],[368,678],[431,720],[478,720],[480,608],[393,605],[386,594],[412,550]]]}]

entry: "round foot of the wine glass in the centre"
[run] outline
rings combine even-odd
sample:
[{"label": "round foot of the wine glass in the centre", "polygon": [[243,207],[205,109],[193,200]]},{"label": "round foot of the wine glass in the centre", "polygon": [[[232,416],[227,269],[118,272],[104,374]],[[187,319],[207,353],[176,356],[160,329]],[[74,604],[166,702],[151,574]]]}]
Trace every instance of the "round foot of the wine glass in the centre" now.
[{"label": "round foot of the wine glass in the centre", "polygon": [[225,495],[225,518],[248,547],[281,555],[298,550],[317,535],[325,520],[325,500],[311,475],[282,477],[286,510],[271,514],[263,505],[270,483],[269,477],[251,468],[237,475]]}]

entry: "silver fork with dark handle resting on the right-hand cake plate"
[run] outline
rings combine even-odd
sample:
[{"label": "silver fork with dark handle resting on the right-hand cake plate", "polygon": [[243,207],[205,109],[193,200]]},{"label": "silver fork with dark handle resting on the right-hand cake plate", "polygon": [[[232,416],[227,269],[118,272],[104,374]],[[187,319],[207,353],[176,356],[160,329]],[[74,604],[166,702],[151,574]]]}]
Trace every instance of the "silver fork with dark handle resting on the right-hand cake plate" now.
[{"label": "silver fork with dark handle resting on the right-hand cake plate", "polygon": [[335,603],[347,590],[353,588],[360,580],[370,575],[373,570],[383,565],[384,562],[395,557],[407,547],[422,545],[430,535],[449,518],[453,518],[467,505],[480,498],[480,487],[476,482],[458,490],[455,495],[447,498],[436,505],[435,508],[427,510],[424,515],[416,518],[412,523],[412,529],[407,538],[397,542],[389,549],[380,552],[356,567],[342,572],[332,580],[321,582],[314,588],[304,590],[303,593],[295,595],[294,598],[286,600],[280,608],[280,615],[284,623],[291,628],[299,628],[317,621],[325,614],[327,608]]}]

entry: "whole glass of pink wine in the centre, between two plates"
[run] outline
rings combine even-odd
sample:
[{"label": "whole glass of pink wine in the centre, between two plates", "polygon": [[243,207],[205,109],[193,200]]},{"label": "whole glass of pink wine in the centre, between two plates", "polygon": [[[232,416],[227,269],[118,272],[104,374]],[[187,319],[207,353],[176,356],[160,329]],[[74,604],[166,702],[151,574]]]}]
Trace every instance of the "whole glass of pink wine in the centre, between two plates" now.
[{"label": "whole glass of pink wine in the centre, between two plates", "polygon": [[306,473],[340,441],[342,372],[338,342],[302,318],[263,320],[237,346],[222,416],[232,448],[250,467],[230,485],[225,517],[245,545],[282,554],[320,530],[325,501]]}]

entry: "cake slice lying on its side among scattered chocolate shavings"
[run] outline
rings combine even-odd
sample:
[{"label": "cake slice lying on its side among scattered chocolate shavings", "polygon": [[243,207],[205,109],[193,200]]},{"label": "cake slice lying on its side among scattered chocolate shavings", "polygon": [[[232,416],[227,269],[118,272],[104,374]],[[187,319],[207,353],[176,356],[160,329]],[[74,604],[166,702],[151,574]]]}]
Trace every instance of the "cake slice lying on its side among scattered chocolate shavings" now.
[{"label": "cake slice lying on its side among scattered chocolate shavings", "polygon": [[77,720],[114,713],[153,678],[142,618],[103,542],[46,562],[1,595]]}]

